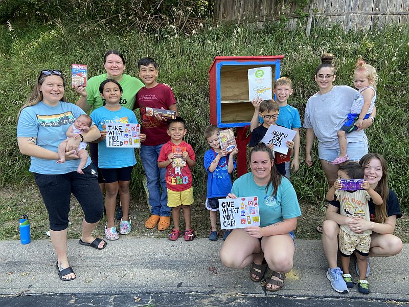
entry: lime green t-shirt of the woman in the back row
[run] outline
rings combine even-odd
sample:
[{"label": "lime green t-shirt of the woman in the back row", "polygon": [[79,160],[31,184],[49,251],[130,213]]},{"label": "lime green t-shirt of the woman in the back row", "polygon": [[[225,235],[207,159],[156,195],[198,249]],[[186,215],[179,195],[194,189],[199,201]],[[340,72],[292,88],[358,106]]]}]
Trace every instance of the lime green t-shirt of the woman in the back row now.
[{"label": "lime green t-shirt of the woman in the back row", "polygon": [[[102,100],[99,93],[99,85],[104,80],[106,80],[106,74],[92,77],[86,82],[85,90],[87,94],[87,103],[91,108],[91,111],[105,104],[105,101]],[[123,90],[119,104],[130,110],[133,109],[137,93],[145,86],[144,83],[135,77],[123,74],[122,80],[119,81],[119,84],[121,84]]]}]

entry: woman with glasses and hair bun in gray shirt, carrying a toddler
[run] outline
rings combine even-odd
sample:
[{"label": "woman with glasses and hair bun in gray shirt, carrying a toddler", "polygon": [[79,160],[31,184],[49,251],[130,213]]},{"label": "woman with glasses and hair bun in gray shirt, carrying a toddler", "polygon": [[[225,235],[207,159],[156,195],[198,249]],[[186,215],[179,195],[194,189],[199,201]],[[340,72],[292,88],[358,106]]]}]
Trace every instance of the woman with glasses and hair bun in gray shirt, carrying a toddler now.
[{"label": "woman with glasses and hair bun in gray shirt, carrying a toddler", "polygon": [[[315,137],[318,139],[318,157],[324,169],[328,185],[331,187],[337,179],[339,165],[332,165],[339,154],[337,131],[345,122],[352,102],[357,93],[347,85],[332,85],[335,80],[335,67],[332,54],[323,54],[321,64],[314,74],[319,91],[310,97],[305,107],[304,128],[307,128],[305,142],[305,163],[312,166],[311,149]],[[371,117],[363,121],[363,129],[368,128],[374,120],[376,109]],[[347,154],[351,161],[368,153],[368,138],[363,129],[347,135]]]}]

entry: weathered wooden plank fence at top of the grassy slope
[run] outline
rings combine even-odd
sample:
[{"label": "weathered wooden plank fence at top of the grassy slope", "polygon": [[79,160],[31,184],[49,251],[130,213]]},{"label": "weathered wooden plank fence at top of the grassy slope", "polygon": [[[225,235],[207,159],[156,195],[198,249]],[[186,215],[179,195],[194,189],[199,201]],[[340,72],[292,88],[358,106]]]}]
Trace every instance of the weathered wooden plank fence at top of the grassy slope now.
[{"label": "weathered wooden plank fence at top of the grassy slope", "polygon": [[[298,7],[287,0],[216,0],[215,23],[252,23],[289,18],[297,24]],[[313,25],[340,24],[345,30],[382,28],[409,23],[409,0],[310,0],[301,10],[312,17]]]}]

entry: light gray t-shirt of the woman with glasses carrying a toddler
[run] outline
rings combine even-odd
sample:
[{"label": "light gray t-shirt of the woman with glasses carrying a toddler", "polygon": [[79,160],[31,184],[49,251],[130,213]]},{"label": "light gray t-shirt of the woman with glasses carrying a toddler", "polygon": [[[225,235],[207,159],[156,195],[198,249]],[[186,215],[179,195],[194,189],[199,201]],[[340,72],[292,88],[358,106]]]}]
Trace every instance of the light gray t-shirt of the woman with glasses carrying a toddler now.
[{"label": "light gray t-shirt of the woman with glasses carrying a toddler", "polygon": [[[357,91],[347,85],[335,85],[326,94],[314,94],[305,107],[304,128],[313,128],[322,148],[339,148],[338,130],[347,119]],[[347,134],[348,143],[361,142],[368,138],[365,131]]]}]

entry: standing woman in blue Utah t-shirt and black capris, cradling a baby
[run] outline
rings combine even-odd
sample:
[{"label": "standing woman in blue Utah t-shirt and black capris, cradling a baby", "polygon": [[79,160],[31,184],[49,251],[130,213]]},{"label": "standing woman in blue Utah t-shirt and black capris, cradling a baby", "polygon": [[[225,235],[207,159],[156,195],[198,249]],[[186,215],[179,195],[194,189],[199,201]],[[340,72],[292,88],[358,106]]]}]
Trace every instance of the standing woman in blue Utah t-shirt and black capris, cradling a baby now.
[{"label": "standing woman in blue Utah t-shirt and black capris, cradling a baby", "polygon": [[85,114],[75,104],[65,102],[64,89],[65,80],[60,71],[41,71],[33,92],[17,116],[17,141],[20,152],[31,156],[30,171],[49,214],[51,242],[58,257],[58,275],[61,280],[69,281],[76,278],[66,252],[71,193],[85,213],[79,243],[103,249],[106,242],[91,235],[103,212],[97,169],[88,157],[83,174],[78,173],[81,160],[75,155],[80,142],[100,137],[95,124],[79,138],[68,138],[66,161],[57,163],[58,145],[67,139],[67,129],[77,117]]}]

